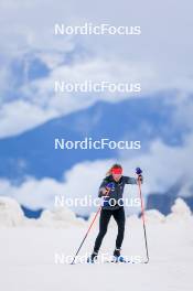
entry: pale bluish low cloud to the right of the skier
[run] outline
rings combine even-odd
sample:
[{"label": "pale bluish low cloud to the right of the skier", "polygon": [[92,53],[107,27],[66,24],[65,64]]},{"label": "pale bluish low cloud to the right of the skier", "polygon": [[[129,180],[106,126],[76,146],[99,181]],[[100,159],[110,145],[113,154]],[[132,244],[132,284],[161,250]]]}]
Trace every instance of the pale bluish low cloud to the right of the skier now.
[{"label": "pale bluish low cloud to the right of the skier", "polygon": [[[160,140],[156,140],[147,153],[139,154],[135,159],[124,162],[124,165],[126,169],[128,168],[127,163],[131,169],[135,169],[136,165],[143,169],[146,176],[143,188],[146,194],[161,193],[179,181],[185,183],[191,179],[192,147],[192,134],[186,137],[182,147],[170,147]],[[124,159],[124,157],[120,159]]]}]

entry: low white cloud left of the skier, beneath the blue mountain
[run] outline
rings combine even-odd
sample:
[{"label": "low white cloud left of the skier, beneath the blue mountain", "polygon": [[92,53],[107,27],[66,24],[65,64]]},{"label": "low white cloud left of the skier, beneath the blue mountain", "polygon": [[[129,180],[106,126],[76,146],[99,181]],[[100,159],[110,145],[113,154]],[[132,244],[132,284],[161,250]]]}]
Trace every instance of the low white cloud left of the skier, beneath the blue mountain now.
[{"label": "low white cloud left of the skier, beneath the blue mountain", "polygon": [[[56,195],[64,195],[66,198],[84,197],[84,195],[97,197],[98,184],[111,163],[112,161],[96,161],[77,164],[65,173],[62,182],[50,177],[40,181],[29,177],[21,185],[15,186],[8,180],[0,180],[0,195],[13,197],[31,208],[53,208]],[[89,213],[89,208],[86,212]],[[77,213],[85,214],[85,211],[79,207]]]}]

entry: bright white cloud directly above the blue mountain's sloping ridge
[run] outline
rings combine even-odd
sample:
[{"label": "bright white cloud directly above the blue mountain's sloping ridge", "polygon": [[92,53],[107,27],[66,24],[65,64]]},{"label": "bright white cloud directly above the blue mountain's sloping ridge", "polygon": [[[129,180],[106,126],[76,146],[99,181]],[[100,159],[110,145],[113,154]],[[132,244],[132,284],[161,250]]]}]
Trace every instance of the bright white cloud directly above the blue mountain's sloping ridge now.
[{"label": "bright white cloud directly above the blue mountain's sloping ridge", "polygon": [[[60,62],[60,58],[52,58],[47,62],[53,67],[49,77],[26,82],[20,88],[15,88],[17,94],[22,96],[21,98],[2,103],[0,109],[0,115],[2,116],[2,122],[0,125],[1,138],[19,134],[49,119],[87,108],[98,100],[114,103],[128,98],[129,96],[129,94],[110,95],[103,93],[54,94],[55,80],[84,83],[87,79],[94,83],[100,83],[101,80],[139,83],[146,76],[147,83],[151,83],[153,75],[151,68],[142,68],[140,65],[133,65],[132,63],[127,66],[124,63],[118,64],[103,60],[87,60],[73,65],[64,64],[56,66],[55,64]],[[130,97],[135,98],[137,96],[138,94],[130,95]]]}]

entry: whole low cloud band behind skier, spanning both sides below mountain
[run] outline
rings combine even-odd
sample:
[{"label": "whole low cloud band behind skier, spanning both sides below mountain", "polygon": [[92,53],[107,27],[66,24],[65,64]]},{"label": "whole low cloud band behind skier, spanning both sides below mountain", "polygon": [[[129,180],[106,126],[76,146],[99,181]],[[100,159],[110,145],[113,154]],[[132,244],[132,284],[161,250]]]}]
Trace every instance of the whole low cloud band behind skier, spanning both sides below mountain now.
[{"label": "whole low cloud band behind skier, spanning both sides below mountain", "polygon": [[[174,183],[191,181],[192,173],[192,148],[193,136],[189,136],[183,147],[169,147],[156,140],[150,150],[133,159],[127,155],[120,157],[118,161],[105,160],[95,162],[83,162],[74,165],[65,172],[63,181],[45,177],[35,180],[29,177],[21,185],[12,185],[7,180],[0,181],[0,195],[11,196],[19,203],[31,208],[53,208],[55,195],[64,195],[66,198],[92,196],[97,197],[98,186],[107,170],[115,162],[120,162],[125,169],[125,175],[135,176],[136,166],[141,166],[144,175],[142,193],[144,197],[149,193],[168,191]],[[190,185],[189,185],[190,186]],[[184,187],[185,190],[185,187]],[[189,195],[184,193],[183,195]],[[127,186],[125,196],[138,195],[136,186]],[[78,214],[89,214],[96,207],[74,207]]]}]

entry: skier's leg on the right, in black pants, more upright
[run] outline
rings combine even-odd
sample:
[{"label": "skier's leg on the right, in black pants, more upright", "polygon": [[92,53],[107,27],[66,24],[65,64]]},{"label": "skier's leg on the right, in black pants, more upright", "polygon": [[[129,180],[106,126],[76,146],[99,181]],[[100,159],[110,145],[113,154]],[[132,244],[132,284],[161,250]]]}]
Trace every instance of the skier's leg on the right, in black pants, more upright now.
[{"label": "skier's leg on the right, in black pants, more upright", "polygon": [[120,207],[117,211],[112,211],[114,218],[118,226],[118,235],[116,239],[116,249],[120,250],[122,240],[124,240],[124,233],[125,233],[125,223],[126,223],[126,216],[125,216],[125,209],[124,207]]}]

